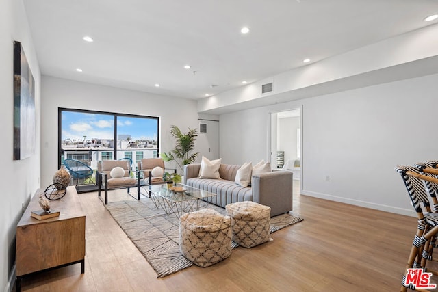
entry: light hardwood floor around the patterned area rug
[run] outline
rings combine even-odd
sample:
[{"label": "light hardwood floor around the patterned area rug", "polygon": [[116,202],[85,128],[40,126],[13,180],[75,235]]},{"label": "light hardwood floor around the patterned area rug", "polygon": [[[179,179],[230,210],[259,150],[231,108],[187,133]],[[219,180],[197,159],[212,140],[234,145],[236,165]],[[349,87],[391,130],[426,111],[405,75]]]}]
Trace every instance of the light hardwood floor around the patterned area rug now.
[{"label": "light hardwood floor around the patterned area rug", "polygon": [[[77,264],[29,276],[23,291],[399,291],[417,227],[415,217],[299,195],[297,184],[293,213],[305,221],[211,267],[157,278],[96,193],[79,197],[85,274]],[[110,198],[131,197],[122,190]]]}]

